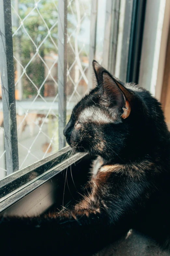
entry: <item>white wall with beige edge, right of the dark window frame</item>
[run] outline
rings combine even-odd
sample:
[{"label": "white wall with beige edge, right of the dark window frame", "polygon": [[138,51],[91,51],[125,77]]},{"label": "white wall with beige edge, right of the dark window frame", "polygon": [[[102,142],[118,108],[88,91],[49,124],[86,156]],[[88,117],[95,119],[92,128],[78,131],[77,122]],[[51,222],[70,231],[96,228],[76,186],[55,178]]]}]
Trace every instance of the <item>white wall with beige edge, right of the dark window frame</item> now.
[{"label": "white wall with beige edge, right of the dark window frame", "polygon": [[170,22],[169,0],[148,0],[142,43],[139,85],[161,97]]}]

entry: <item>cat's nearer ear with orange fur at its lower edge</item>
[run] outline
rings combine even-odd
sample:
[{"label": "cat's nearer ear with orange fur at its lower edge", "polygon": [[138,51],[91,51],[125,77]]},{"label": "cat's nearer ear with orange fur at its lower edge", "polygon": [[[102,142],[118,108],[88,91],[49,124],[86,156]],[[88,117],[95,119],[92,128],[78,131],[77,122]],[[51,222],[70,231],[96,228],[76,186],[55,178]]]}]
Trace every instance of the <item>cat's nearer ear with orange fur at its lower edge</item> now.
[{"label": "cat's nearer ear with orange fur at its lower edge", "polygon": [[133,95],[109,73],[103,71],[103,83],[101,86],[105,104],[109,107],[119,107],[123,109],[121,117],[127,118],[131,112],[131,100]]}]

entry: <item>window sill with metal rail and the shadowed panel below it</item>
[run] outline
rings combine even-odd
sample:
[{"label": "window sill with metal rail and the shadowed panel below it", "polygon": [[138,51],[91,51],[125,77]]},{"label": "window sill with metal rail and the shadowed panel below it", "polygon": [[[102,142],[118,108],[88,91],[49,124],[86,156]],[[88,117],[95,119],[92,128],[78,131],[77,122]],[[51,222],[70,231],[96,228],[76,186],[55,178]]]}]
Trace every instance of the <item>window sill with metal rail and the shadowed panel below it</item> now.
[{"label": "window sill with metal rail and the shadowed panel below it", "polygon": [[[70,193],[76,192],[75,181],[79,189],[85,184],[92,159],[88,154],[82,153],[69,157],[70,150],[69,146],[65,147],[58,153],[1,180],[0,214],[36,216],[44,213],[54,204],[61,207],[63,193],[64,205],[66,205],[72,199]],[[65,182],[66,169],[67,182]],[[67,184],[65,185],[65,191],[64,183],[69,185],[69,188]]]}]

